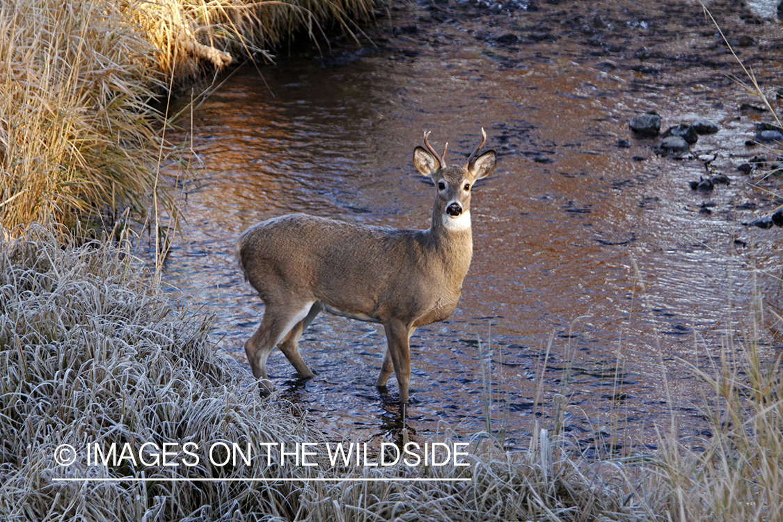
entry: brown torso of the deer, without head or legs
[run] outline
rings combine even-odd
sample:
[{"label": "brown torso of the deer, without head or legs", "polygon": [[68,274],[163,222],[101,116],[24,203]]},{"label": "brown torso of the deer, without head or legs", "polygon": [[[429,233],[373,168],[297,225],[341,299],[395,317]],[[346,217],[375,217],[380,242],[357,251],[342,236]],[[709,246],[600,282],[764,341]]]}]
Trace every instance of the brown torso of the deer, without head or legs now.
[{"label": "brown torso of the deer, without head or legs", "polygon": [[[240,265],[262,300],[323,301],[346,315],[407,316],[426,324],[451,314],[470,263],[438,252],[428,231],[386,229],[290,214],[240,236]],[[462,256],[464,257],[464,256]]]}]

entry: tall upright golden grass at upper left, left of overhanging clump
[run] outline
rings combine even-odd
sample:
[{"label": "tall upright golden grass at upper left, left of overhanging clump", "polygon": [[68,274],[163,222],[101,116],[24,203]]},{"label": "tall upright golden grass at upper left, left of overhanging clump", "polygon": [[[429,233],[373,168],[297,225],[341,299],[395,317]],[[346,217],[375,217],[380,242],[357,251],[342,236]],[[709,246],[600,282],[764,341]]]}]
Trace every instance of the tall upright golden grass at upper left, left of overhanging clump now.
[{"label": "tall upright golden grass at upper left, left of overhanging clump", "polygon": [[9,0],[0,31],[0,225],[146,211],[163,147],[153,46],[101,0]]}]

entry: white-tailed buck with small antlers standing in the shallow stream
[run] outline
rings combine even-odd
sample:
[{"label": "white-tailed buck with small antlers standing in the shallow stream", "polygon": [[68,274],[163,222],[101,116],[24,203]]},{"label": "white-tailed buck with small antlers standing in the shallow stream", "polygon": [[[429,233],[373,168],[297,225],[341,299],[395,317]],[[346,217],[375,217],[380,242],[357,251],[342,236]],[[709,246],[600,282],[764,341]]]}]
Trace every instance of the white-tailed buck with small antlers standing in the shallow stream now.
[{"label": "white-tailed buck with small antlers standing in the shallow stream", "polygon": [[[497,156],[481,145],[464,166],[446,166],[427,141],[413,150],[417,170],[435,182],[428,230],[359,225],[307,214],[272,218],[247,229],[239,240],[244,275],[266,305],[261,326],[245,343],[247,360],[262,393],[269,394],[266,359],[276,346],[299,376],[313,373],[299,355],[302,331],[320,311],[380,322],[388,347],[376,386],[394,369],[399,400],[408,401],[411,333],[442,321],[456,308],[471,265],[471,189],[495,168]],[[448,146],[448,143],[446,143]]]}]

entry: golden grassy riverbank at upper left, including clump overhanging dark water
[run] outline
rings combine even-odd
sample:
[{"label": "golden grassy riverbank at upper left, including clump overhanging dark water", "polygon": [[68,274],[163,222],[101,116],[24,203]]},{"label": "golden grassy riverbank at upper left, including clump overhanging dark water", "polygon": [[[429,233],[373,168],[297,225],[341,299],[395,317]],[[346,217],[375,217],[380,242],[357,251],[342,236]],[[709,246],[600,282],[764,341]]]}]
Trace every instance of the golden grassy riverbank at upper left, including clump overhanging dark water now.
[{"label": "golden grassy riverbank at upper left, including clump overhanging dark water", "polygon": [[[359,34],[372,0],[92,2],[0,7],[0,225],[72,228],[171,214],[163,92],[301,34]],[[160,208],[159,208],[160,207]],[[150,210],[151,209],[151,210]]]}]

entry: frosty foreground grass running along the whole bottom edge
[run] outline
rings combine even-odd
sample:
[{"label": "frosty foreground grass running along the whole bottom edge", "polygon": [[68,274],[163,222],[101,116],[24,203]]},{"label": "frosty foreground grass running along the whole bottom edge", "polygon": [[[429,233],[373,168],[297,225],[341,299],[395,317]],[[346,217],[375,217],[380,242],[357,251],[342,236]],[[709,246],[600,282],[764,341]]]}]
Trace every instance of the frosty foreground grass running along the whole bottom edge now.
[{"label": "frosty foreground grass running along the whole bottom edge", "polygon": [[[714,371],[703,451],[662,434],[659,451],[584,459],[553,432],[526,451],[492,437],[470,466],[281,464],[268,443],[329,440],[293,405],[262,399],[248,372],[215,355],[210,320],[177,309],[127,246],[60,243],[34,227],[0,242],[0,517],[3,520],[781,520],[783,383],[754,344]],[[444,439],[451,441],[449,437]],[[88,445],[251,448],[249,465],[114,464]],[[337,442],[337,441],[331,441]],[[56,448],[78,452],[59,466]],[[182,453],[177,455],[181,458]],[[140,459],[140,457],[139,457]],[[145,478],[60,482],[56,478]],[[266,477],[296,481],[254,482]],[[338,479],[308,481],[314,477]],[[435,481],[353,481],[349,477]],[[218,481],[171,481],[172,478]],[[470,478],[470,481],[450,481]],[[228,479],[234,479],[229,481]],[[240,479],[240,480],[236,480]],[[345,480],[342,480],[345,479]]]}]

